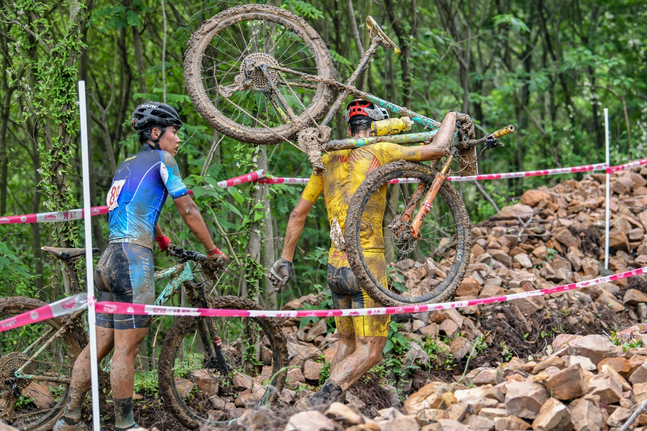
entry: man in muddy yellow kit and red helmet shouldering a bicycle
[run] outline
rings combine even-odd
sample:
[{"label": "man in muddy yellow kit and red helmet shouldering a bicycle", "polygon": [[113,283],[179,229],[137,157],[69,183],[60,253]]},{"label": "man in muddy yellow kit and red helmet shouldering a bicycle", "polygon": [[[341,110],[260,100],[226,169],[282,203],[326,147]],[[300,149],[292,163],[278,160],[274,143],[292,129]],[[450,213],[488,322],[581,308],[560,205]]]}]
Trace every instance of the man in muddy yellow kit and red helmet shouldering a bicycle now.
[{"label": "man in muddy yellow kit and red helmet shouldering a bicycle", "polygon": [[[347,133],[350,137],[369,137],[371,122],[388,118],[386,109],[377,107],[364,100],[353,100],[346,107]],[[305,218],[323,192],[331,225],[331,246],[328,255],[327,284],[333,296],[335,309],[379,307],[362,289],[349,266],[343,232],[348,205],[366,175],[380,166],[394,160],[440,159],[445,155],[444,148],[454,137],[456,113],[448,113],[432,144],[426,146],[404,147],[391,142],[380,142],[354,149],[343,149],[323,155],[322,162],[326,171],[322,176],[311,175],[305,190],[294,211],[290,215],[285,232],[285,243],[281,259],[270,268],[267,276],[278,291],[292,275],[292,258]],[[372,212],[377,223],[367,220],[366,225],[381,225],[384,205]],[[367,212],[369,214],[371,212]],[[384,267],[384,243],[380,236],[367,236],[362,241],[366,261],[375,262],[370,268],[386,287],[386,268]],[[371,255],[377,259],[371,259]],[[339,333],[338,349],[330,367],[330,377],[310,399],[311,405],[336,399],[353,386],[366,371],[382,360],[382,349],[386,344],[389,331],[389,316],[341,316],[334,318]]]}]

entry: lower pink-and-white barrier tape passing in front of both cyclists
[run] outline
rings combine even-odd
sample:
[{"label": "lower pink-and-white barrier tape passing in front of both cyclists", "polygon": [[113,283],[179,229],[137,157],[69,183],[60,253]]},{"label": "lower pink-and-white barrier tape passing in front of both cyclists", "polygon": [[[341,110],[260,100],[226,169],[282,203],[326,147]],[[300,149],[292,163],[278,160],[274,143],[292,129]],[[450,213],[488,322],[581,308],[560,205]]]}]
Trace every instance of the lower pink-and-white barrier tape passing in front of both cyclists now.
[{"label": "lower pink-and-white barrier tape passing in front of both cyclists", "polygon": [[[548,295],[579,289],[580,287],[593,286],[601,283],[613,282],[622,278],[646,274],[647,267],[632,271],[620,272],[611,276],[587,280],[586,282],[571,283],[562,286],[539,289],[537,291],[514,293],[492,298],[480,298],[466,301],[441,302],[440,304],[404,305],[401,307],[377,307],[344,310],[290,310],[290,311],[258,311],[258,310],[230,310],[211,308],[167,307],[164,305],[128,304],[126,302],[96,302],[96,313],[118,313],[124,315],[150,315],[150,316],[219,316],[219,317],[333,317],[333,316],[377,316],[398,315],[405,313],[423,313],[424,311],[445,310],[450,308],[469,307],[470,305],[494,304],[532,296]],[[0,332],[14,329],[19,326],[40,322],[41,320],[58,317],[72,313],[85,307],[87,296],[81,293],[64,300],[45,305],[38,309],[27,311],[21,315],[13,316],[0,321]]]}]

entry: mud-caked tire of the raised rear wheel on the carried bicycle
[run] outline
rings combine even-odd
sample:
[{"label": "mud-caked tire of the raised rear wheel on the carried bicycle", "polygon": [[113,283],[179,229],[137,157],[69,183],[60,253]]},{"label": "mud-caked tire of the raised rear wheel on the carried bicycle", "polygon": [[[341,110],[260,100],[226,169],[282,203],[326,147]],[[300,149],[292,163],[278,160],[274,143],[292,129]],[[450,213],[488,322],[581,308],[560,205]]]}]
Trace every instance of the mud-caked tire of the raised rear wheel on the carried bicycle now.
[{"label": "mud-caked tire of the raised rear wheel on the carried bicycle", "polygon": [[[213,38],[214,33],[220,29],[223,22],[231,21],[234,23],[236,22],[236,18],[238,18],[237,22],[239,22],[245,16],[272,18],[277,21],[291,23],[294,27],[293,30],[301,32],[310,39],[308,41],[302,38],[313,52],[313,56],[315,56],[315,62],[319,69],[318,75],[322,78],[334,79],[333,59],[330,56],[325,42],[305,19],[296,16],[289,10],[275,6],[239,5],[223,10],[223,12],[204,21],[203,25],[189,39],[186,52],[184,53],[184,82],[186,83],[186,90],[198,113],[217,131],[230,138],[247,142],[248,144],[278,144],[279,142],[294,138],[302,127],[308,127],[305,124],[314,126],[311,124],[310,116],[313,116],[315,120],[319,120],[323,116],[323,111],[325,111],[332,100],[333,91],[328,85],[320,83],[319,88],[313,96],[313,100],[307,106],[307,111],[310,114],[308,115],[308,113],[303,112],[298,116],[299,121],[272,127],[272,131],[242,126],[241,124],[232,122],[230,118],[227,118],[219,110],[215,109],[214,104],[207,96],[206,91],[204,91],[201,80],[204,50],[208,42]],[[272,21],[272,19],[269,19],[269,21]]]}]

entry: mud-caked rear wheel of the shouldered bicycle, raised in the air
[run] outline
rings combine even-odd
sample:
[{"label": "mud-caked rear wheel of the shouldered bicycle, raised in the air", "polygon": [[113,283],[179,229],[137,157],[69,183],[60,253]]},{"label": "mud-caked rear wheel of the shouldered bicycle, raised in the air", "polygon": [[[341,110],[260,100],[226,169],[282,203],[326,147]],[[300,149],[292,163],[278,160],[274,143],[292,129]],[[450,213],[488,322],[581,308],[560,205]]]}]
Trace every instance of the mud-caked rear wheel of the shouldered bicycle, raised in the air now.
[{"label": "mud-caked rear wheel of the shouldered bicycle, raised in the air", "polygon": [[[267,75],[258,69],[263,64],[270,67]],[[330,104],[332,90],[324,83],[272,67],[334,78],[321,36],[303,18],[274,6],[220,12],[204,21],[184,54],[186,89],[197,111],[217,131],[250,144],[292,139]]]}]

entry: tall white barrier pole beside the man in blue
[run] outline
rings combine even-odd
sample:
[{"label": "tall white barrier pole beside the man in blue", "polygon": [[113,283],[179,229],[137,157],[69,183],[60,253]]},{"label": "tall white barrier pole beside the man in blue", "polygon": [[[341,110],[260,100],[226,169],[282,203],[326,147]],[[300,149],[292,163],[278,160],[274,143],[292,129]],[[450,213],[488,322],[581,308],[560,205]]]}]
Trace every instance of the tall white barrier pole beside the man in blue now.
[{"label": "tall white barrier pole beside the man in blue", "polygon": [[90,170],[87,149],[87,110],[85,81],[79,81],[81,122],[81,166],[83,167],[83,225],[85,227],[85,275],[87,279],[87,320],[90,333],[90,375],[92,382],[92,419],[94,431],[100,431],[99,364],[96,358],[96,313],[94,311],[94,269],[92,263],[92,217],[90,217]]}]

